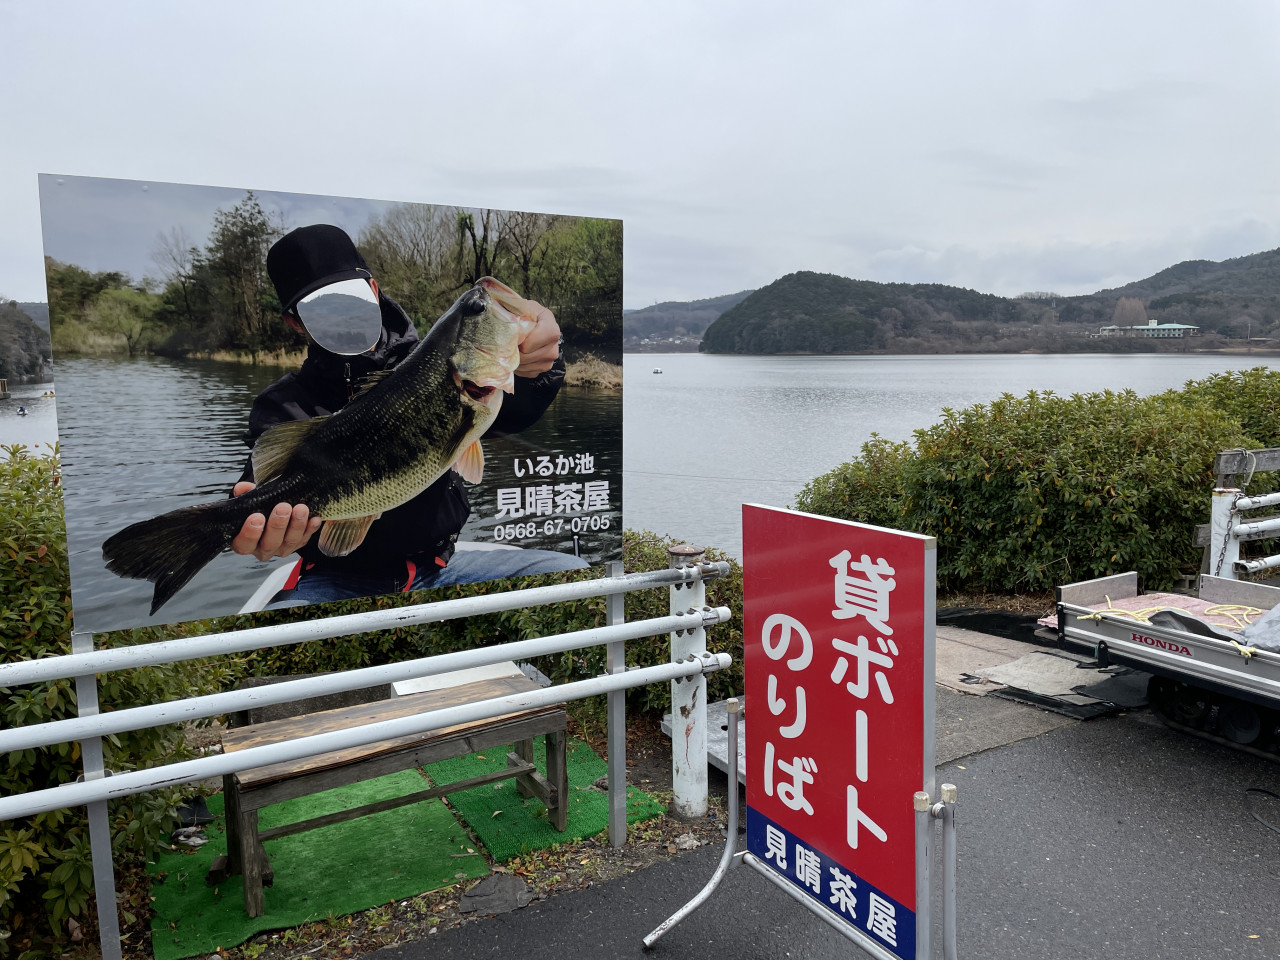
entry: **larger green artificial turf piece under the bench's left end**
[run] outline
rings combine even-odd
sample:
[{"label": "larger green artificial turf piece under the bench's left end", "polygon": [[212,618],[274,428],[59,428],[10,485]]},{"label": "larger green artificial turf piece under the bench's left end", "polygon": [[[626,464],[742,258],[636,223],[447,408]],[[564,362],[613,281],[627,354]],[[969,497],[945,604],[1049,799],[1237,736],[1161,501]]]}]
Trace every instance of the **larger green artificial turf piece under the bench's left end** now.
[{"label": "larger green artificial turf piece under the bench's left end", "polygon": [[[259,814],[259,828],[404,796],[425,787],[420,772],[403,771],[268,806]],[[266,913],[250,919],[244,915],[239,877],[218,888],[205,886],[214,856],[227,852],[220,795],[209,797],[209,810],[218,817],[205,827],[210,842],[193,852],[161,855],[151,867],[155,960],[207,955],[220,946],[243,943],[262,931],[369,910],[389,900],[489,874],[483,851],[470,842],[449,809],[440,800],[424,800],[269,840],[264,846],[275,868],[275,884],[264,891]],[[468,845],[475,850],[472,855],[467,855]]]}]

